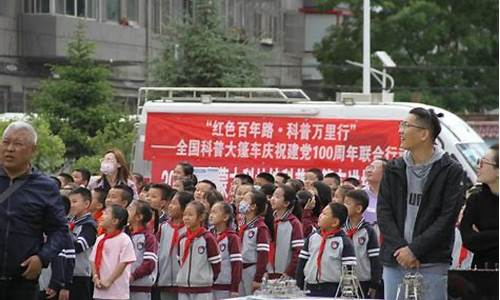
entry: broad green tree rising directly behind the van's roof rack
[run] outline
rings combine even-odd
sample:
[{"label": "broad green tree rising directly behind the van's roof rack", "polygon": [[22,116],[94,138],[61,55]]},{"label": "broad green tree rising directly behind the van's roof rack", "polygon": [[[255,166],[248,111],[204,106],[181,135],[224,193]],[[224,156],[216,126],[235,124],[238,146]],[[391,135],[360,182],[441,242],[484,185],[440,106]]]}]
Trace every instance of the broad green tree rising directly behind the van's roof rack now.
[{"label": "broad green tree rising directly behind the van's roof rack", "polygon": [[165,50],[152,62],[152,83],[160,86],[240,87],[262,83],[256,47],[226,34],[214,2],[203,2],[167,28]]}]

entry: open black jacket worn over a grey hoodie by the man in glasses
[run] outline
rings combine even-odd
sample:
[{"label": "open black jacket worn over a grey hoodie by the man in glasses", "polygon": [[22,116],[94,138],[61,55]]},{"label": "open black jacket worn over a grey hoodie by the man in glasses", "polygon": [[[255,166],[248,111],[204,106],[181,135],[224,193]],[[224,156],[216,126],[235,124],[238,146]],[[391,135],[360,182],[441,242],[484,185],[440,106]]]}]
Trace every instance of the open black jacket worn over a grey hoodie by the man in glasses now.
[{"label": "open black jacket worn over a grey hoodie by the man in glasses", "polygon": [[404,239],[407,206],[406,163],[391,160],[384,168],[377,203],[381,233],[380,261],[397,265],[394,252],[408,246],[422,264],[451,263],[455,223],[465,198],[465,172],[445,153],[432,164],[415,220],[413,239]]}]

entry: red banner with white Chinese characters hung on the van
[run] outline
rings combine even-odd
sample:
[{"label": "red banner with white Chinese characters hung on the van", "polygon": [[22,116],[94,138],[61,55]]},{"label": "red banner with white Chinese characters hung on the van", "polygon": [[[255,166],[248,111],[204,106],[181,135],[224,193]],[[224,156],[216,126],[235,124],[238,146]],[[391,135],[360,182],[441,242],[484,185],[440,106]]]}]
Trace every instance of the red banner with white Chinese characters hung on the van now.
[{"label": "red banner with white Chinese characters hung on the van", "polygon": [[146,124],[153,181],[168,181],[179,161],[220,168],[223,184],[240,172],[301,178],[312,167],[361,178],[373,159],[399,155],[396,120],[149,113]]}]

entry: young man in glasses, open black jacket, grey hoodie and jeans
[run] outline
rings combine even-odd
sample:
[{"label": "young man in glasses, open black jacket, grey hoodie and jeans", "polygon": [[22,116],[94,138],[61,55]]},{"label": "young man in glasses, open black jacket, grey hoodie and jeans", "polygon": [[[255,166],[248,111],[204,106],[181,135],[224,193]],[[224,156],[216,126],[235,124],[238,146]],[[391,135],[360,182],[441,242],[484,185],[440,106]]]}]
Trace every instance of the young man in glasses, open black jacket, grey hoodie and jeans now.
[{"label": "young man in glasses, open black jacket, grey hoodie and jeans", "polygon": [[396,299],[405,274],[417,271],[424,284],[419,298],[447,299],[447,271],[465,196],[465,173],[434,145],[440,131],[433,110],[412,109],[399,129],[401,148],[407,151],[384,170],[377,217],[385,299]]}]

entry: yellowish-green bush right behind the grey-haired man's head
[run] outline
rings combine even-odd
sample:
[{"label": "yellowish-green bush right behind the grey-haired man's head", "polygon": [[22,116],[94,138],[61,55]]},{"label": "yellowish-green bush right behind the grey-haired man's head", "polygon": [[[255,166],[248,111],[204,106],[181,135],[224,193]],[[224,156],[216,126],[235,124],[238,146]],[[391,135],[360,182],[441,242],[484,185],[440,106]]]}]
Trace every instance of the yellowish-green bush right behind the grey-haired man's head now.
[{"label": "yellowish-green bush right behind the grey-haired man's head", "polygon": [[[32,117],[27,121],[33,125],[38,135],[37,151],[32,160],[33,165],[43,172],[57,172],[64,163],[66,150],[64,142],[50,131],[49,123],[46,120]],[[1,121],[0,132],[3,132],[11,122]]]}]

